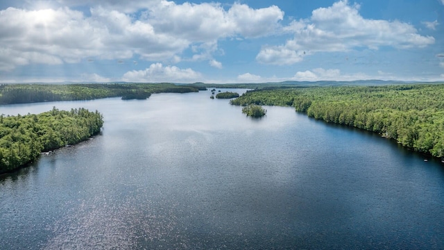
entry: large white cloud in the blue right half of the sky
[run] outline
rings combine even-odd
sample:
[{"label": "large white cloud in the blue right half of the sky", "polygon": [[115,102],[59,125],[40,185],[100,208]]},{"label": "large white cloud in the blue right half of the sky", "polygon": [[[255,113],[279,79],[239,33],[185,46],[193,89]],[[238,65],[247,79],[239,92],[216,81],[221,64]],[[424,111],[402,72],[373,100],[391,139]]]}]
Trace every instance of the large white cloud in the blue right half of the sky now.
[{"label": "large white cloud in the blue right half of the sky", "polygon": [[[309,19],[293,21],[284,28],[294,33],[293,39],[281,46],[264,47],[256,59],[260,63],[289,65],[316,52],[379,47],[408,49],[435,42],[431,36],[418,34],[411,24],[365,19],[359,14],[359,8],[358,4],[350,5],[342,0],[328,8],[313,10]],[[293,60],[289,60],[289,56]]]}]

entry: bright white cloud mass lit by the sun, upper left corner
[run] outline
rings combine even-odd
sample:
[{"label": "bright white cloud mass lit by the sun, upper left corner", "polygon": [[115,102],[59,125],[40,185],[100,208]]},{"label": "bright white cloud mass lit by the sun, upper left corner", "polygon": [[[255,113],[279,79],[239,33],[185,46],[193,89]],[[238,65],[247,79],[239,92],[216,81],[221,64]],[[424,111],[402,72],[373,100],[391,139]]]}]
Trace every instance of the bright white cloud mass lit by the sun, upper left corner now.
[{"label": "bright white cloud mass lit by the sun, upper left corner", "polygon": [[17,65],[31,63],[77,63],[89,56],[131,56],[128,50],[109,50],[104,44],[109,38],[105,28],[95,26],[82,12],[58,10],[22,10],[8,8],[0,11],[0,61],[10,56],[19,58]]}]

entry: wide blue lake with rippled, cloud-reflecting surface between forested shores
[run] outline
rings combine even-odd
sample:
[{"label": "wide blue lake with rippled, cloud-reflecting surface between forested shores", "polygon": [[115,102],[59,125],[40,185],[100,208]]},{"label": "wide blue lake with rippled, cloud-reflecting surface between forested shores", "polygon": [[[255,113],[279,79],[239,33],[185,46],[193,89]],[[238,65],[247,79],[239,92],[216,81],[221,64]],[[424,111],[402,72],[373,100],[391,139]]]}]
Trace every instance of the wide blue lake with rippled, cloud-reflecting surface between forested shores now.
[{"label": "wide blue lake with rippled, cloud-reflecting surface between forested shores", "polygon": [[0,249],[443,249],[444,169],[384,138],[210,92],[85,107],[103,133],[0,177]]}]

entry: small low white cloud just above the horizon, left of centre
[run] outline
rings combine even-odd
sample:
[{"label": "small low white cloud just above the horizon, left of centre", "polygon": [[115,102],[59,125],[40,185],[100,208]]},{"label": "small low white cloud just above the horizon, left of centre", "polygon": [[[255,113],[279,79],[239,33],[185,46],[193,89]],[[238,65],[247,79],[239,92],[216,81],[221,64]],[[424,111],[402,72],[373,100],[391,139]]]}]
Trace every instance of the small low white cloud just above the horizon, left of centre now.
[{"label": "small low white cloud just above the horizon, left of centre", "polygon": [[193,69],[180,69],[176,66],[163,66],[153,63],[144,70],[133,70],[123,74],[123,81],[140,83],[192,83],[202,80],[202,75]]}]

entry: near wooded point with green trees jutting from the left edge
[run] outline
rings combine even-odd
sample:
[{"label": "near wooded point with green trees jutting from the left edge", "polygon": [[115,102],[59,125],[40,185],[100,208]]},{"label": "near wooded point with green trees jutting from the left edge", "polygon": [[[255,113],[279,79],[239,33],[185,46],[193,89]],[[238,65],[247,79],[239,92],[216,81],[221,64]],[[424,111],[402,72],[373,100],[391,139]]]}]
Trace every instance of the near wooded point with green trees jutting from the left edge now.
[{"label": "near wooded point with green trees jutting from the left edge", "polygon": [[0,116],[0,174],[10,172],[50,151],[99,133],[103,117],[85,108],[53,110],[39,115]]}]

